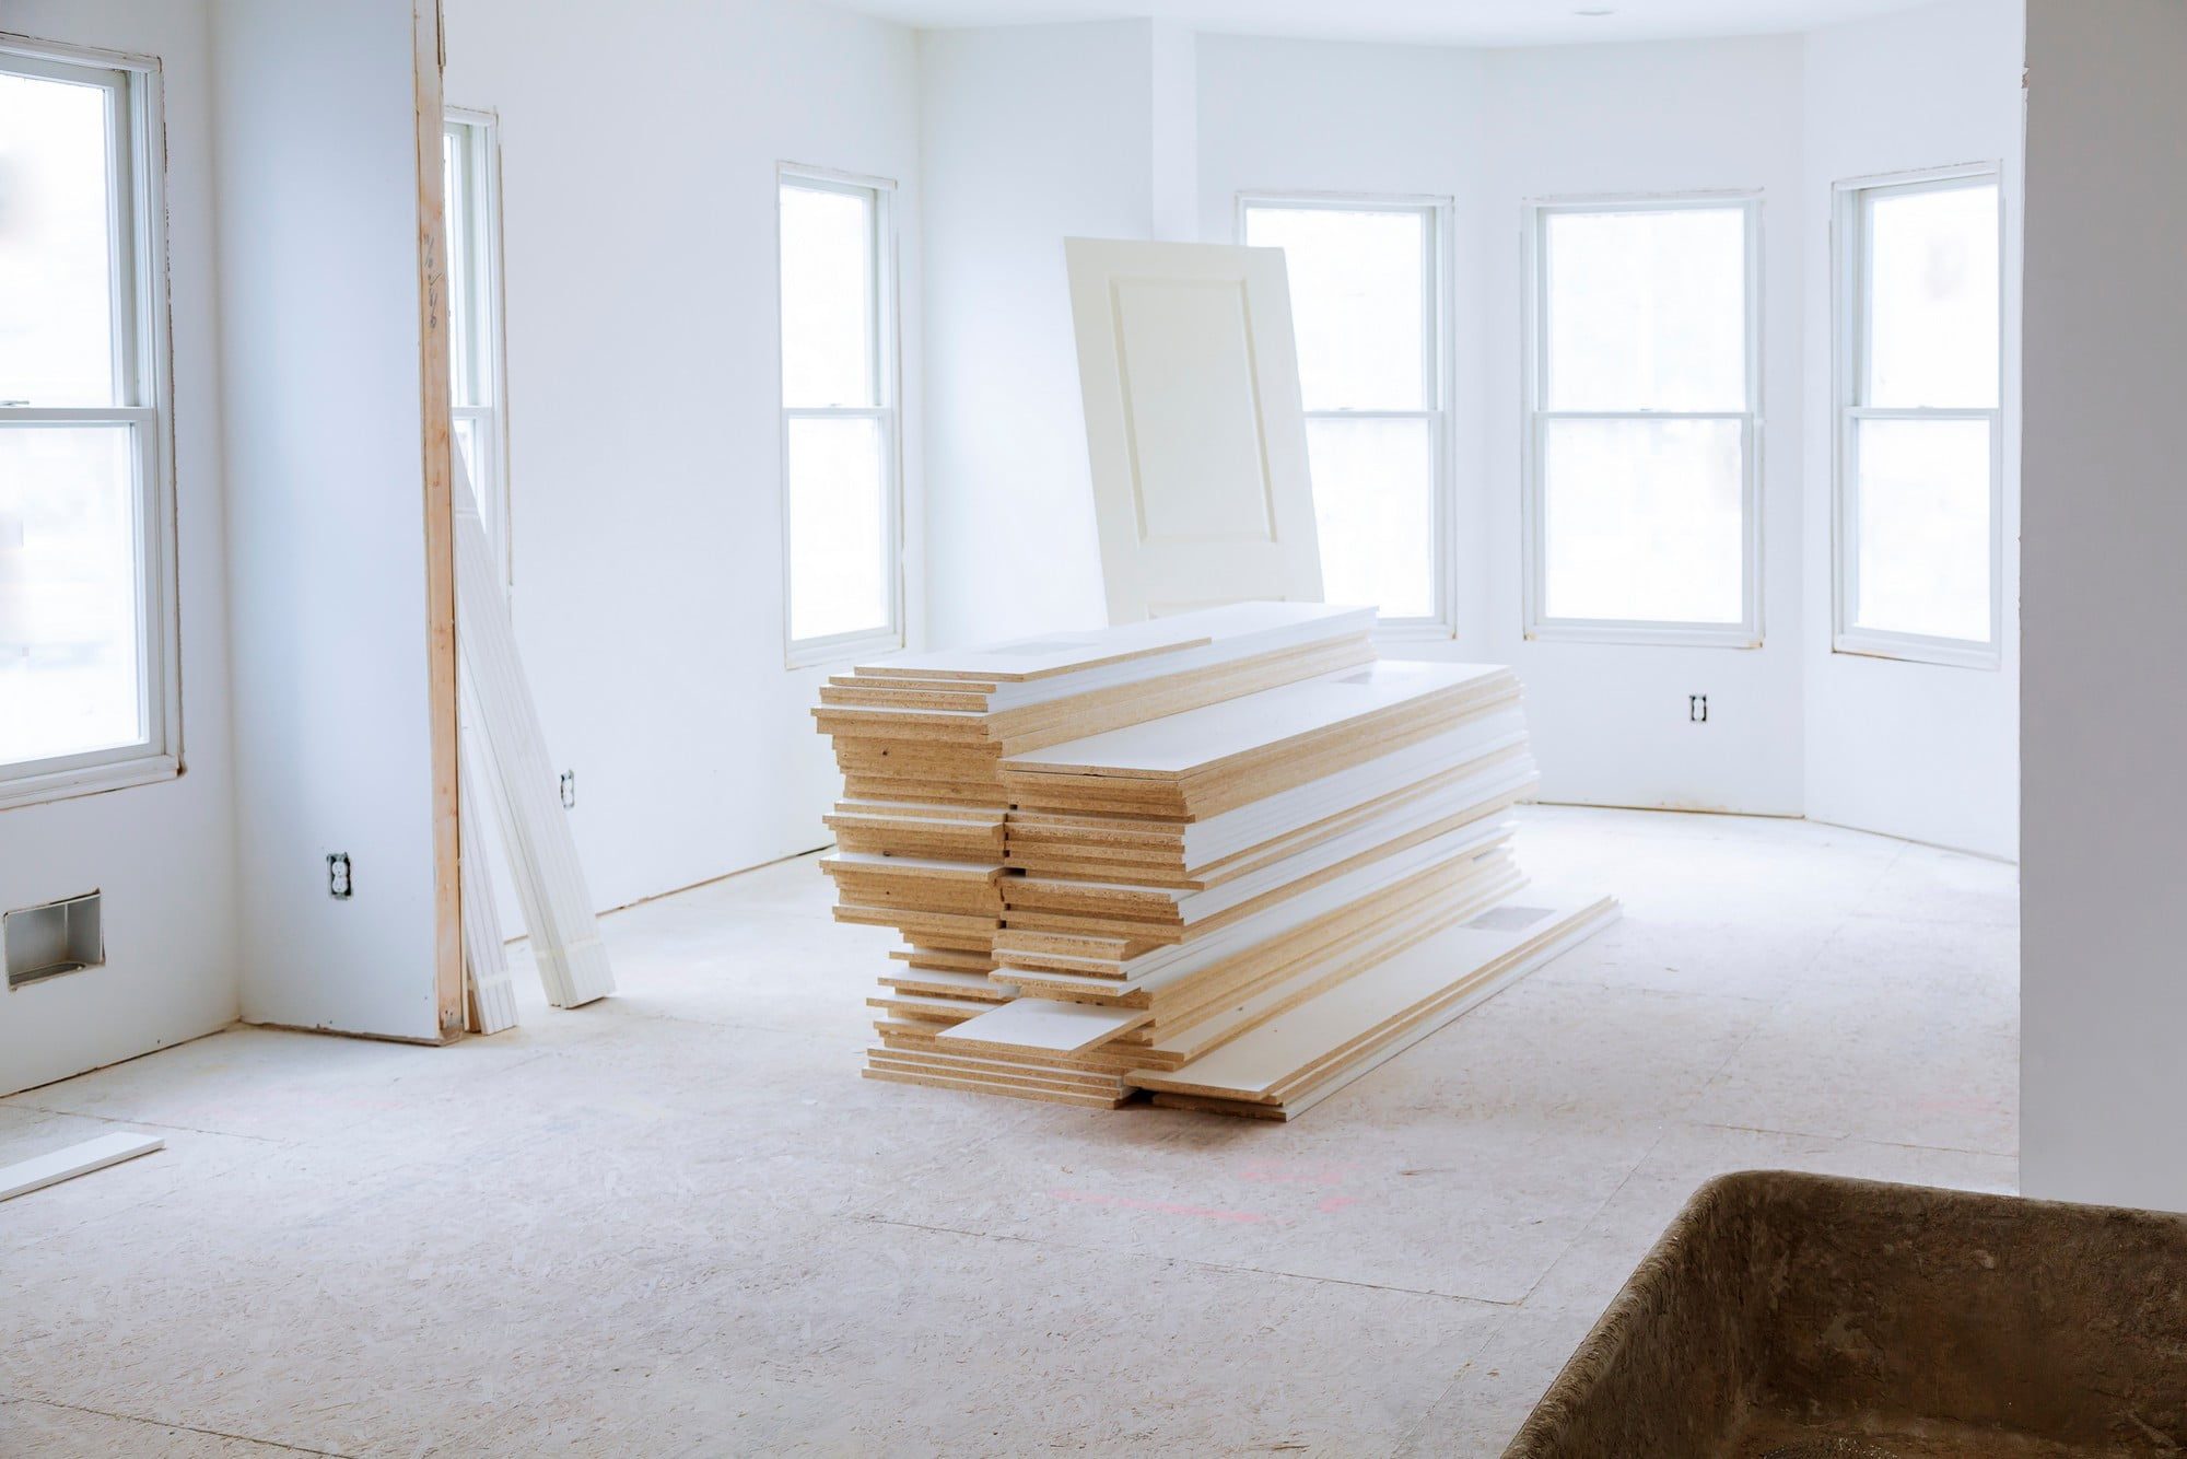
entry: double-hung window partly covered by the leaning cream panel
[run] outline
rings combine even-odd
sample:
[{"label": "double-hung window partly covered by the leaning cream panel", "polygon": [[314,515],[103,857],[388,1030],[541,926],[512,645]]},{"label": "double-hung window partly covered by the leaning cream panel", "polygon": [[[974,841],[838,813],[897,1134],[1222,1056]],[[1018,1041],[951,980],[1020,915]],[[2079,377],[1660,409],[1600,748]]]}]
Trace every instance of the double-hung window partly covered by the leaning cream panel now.
[{"label": "double-hung window partly covered by the leaning cream panel", "polygon": [[1448,637],[1446,208],[1432,199],[1242,197],[1240,232],[1284,249],[1321,536],[1321,595]]}]

